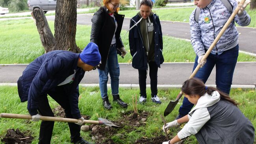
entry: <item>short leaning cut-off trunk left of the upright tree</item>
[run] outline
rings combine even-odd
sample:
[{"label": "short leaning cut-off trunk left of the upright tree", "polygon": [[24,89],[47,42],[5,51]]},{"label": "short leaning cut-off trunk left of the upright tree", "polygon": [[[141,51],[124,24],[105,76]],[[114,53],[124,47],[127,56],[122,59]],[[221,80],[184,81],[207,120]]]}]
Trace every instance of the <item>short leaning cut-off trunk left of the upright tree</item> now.
[{"label": "short leaning cut-off trunk left of the upright tree", "polygon": [[42,45],[45,48],[45,52],[50,52],[54,50],[54,46],[56,42],[50,30],[50,27],[48,25],[48,22],[46,20],[43,10],[37,9],[37,10],[34,10],[33,13],[31,14],[35,19],[35,24],[37,25],[37,31],[39,32]]}]

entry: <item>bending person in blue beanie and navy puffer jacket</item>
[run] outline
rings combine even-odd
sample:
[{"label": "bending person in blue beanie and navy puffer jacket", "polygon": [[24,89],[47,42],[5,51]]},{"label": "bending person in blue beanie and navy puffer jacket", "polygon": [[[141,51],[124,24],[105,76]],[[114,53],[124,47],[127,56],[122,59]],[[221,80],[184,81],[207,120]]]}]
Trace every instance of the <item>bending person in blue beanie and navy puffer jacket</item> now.
[{"label": "bending person in blue beanie and navy puffer jacket", "polygon": [[[84,119],[78,108],[78,84],[86,71],[96,69],[100,59],[98,46],[91,42],[80,54],[54,50],[32,61],[17,82],[20,101],[28,101],[32,121],[39,121],[41,115],[54,117],[48,103],[49,95],[64,109],[67,118],[81,120],[76,124],[68,123],[71,142],[89,144],[80,137]],[[39,144],[50,144],[53,127],[53,121],[41,122]]]}]

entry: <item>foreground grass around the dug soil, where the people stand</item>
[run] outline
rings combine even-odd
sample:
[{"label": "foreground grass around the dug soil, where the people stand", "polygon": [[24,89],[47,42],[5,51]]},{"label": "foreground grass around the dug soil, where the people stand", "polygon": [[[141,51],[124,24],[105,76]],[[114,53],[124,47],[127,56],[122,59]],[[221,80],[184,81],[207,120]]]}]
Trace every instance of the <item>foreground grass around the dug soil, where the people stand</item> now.
[{"label": "foreground grass around the dug soil, where the people stand", "polygon": [[[117,133],[122,135],[113,136],[111,139],[117,144],[134,144],[135,140],[141,137],[158,137],[164,135],[161,130],[163,122],[161,121],[160,115],[163,114],[167,104],[170,100],[175,99],[176,95],[180,89],[169,89],[169,90],[159,90],[158,95],[163,102],[160,105],[152,103],[150,100],[147,100],[145,105],[139,104],[139,111],[146,111],[150,113],[150,116],[147,117],[147,122],[144,126],[133,127],[132,131],[126,131],[130,127],[122,127],[117,129]],[[110,92],[110,90],[109,90]],[[150,89],[147,89],[147,93],[150,94]],[[100,91],[98,87],[80,87],[80,95],[82,96],[79,101],[79,108],[82,115],[88,115],[91,117],[91,120],[96,120],[97,117],[102,117],[109,119],[111,121],[119,121],[121,115],[124,112],[132,111],[132,95],[139,95],[139,89],[124,89],[120,88],[120,94],[122,99],[125,102],[128,102],[128,108],[122,109],[116,104],[112,103],[112,96],[110,96],[110,101],[112,103],[112,110],[104,110],[102,106],[102,100],[100,97]],[[110,95],[110,94],[109,94]],[[242,89],[232,89],[230,93],[231,97],[239,102],[239,108],[241,112],[244,113],[246,117],[250,119],[254,127],[256,127],[256,100],[255,100],[255,91],[254,90],[242,90]],[[163,100],[163,97],[166,100]],[[20,99],[17,92],[16,86],[0,86],[0,113],[18,113],[18,114],[28,114],[26,109],[27,103],[20,103]],[[50,106],[53,108],[57,107],[58,104],[49,98]],[[174,111],[165,117],[167,122],[173,121],[176,115],[178,114],[178,108],[181,105],[182,101],[178,103]],[[29,131],[29,133],[35,138],[32,144],[37,144],[39,137],[39,127],[40,122],[30,122],[22,119],[0,119],[0,139],[4,137],[6,131],[11,128],[19,128],[21,131]],[[183,126],[183,125],[182,125]],[[181,127],[182,127],[181,126]],[[171,129],[169,138],[176,135],[178,130],[181,127]],[[89,136],[90,132],[82,132],[81,135],[86,140],[91,140]],[[69,144],[70,142],[70,133],[67,123],[65,122],[55,122],[54,132],[52,136],[52,144],[65,143]],[[256,142],[256,141],[255,141]],[[0,144],[2,144],[0,142]],[[185,144],[198,144],[194,136],[189,137]]]}]

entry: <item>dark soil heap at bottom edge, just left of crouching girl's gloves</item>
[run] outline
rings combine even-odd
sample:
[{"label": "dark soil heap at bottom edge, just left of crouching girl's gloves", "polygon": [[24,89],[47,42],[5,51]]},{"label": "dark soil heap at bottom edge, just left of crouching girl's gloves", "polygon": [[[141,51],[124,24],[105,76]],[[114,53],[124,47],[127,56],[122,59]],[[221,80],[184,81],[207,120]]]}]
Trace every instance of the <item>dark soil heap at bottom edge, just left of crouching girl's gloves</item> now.
[{"label": "dark soil heap at bottom edge, just left of crouching girl's gloves", "polygon": [[143,137],[137,139],[134,144],[162,144],[164,141],[168,141],[165,136],[160,135],[159,137],[147,138]]}]

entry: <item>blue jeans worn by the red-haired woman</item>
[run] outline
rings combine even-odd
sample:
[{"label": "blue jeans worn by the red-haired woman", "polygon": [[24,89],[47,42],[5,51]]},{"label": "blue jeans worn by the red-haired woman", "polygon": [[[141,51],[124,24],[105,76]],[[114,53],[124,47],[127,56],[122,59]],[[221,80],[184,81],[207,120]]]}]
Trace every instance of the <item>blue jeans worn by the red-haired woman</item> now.
[{"label": "blue jeans worn by the red-haired woman", "polygon": [[100,93],[102,99],[108,96],[108,74],[111,78],[111,91],[112,95],[119,94],[119,75],[120,69],[117,60],[117,49],[116,45],[113,45],[109,49],[108,59],[106,62],[105,70],[98,69],[99,73],[99,83],[100,83]]}]

